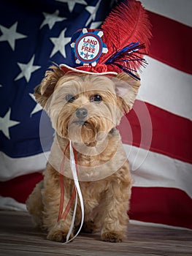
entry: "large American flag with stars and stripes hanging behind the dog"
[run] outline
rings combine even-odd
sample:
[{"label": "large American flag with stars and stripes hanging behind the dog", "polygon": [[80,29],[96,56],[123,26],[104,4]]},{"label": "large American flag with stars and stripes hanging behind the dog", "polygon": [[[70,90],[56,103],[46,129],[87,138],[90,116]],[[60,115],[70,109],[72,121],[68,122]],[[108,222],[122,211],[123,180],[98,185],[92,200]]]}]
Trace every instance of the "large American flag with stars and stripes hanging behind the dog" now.
[{"label": "large American flag with stars and stripes hanging behind the dog", "polygon": [[[72,64],[70,38],[96,28],[113,1],[1,1],[0,207],[25,203],[47,161],[39,140],[42,109],[34,100],[51,62]],[[148,65],[134,109],[120,133],[131,164],[132,220],[192,228],[191,0],[142,0],[152,23]],[[44,150],[53,129],[45,116]]]}]

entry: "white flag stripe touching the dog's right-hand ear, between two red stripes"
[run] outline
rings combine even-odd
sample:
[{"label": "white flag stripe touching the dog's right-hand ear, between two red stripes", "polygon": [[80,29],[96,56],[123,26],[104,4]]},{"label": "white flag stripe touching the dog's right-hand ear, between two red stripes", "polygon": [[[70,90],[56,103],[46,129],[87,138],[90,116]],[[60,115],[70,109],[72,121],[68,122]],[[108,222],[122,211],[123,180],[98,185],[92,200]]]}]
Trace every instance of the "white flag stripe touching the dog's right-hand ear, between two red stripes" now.
[{"label": "white flag stripe touching the dog's right-hand ear, between two red stripes", "polygon": [[146,57],[137,99],[192,120],[192,75]]}]

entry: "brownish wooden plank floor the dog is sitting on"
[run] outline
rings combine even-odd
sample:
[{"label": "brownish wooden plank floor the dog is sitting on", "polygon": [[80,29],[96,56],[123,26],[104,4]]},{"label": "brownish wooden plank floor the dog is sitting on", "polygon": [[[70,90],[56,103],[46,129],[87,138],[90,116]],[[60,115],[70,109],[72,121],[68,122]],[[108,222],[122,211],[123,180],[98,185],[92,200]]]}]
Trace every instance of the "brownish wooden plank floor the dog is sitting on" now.
[{"label": "brownish wooden plank floor the dog is sitting on", "polygon": [[61,244],[47,241],[45,233],[34,229],[27,213],[0,211],[0,255],[191,256],[192,232],[130,224],[123,243],[103,242],[99,234],[80,234],[71,243]]}]

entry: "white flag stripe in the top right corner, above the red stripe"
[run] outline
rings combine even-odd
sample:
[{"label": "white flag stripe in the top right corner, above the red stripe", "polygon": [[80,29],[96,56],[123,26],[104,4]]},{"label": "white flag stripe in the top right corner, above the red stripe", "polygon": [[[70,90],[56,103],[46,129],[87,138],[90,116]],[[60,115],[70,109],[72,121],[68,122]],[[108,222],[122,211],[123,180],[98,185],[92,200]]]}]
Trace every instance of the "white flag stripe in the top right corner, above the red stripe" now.
[{"label": "white flag stripe in the top right corner, above the red stripe", "polygon": [[149,11],[163,15],[166,18],[177,20],[188,26],[192,26],[191,0],[140,0]]}]

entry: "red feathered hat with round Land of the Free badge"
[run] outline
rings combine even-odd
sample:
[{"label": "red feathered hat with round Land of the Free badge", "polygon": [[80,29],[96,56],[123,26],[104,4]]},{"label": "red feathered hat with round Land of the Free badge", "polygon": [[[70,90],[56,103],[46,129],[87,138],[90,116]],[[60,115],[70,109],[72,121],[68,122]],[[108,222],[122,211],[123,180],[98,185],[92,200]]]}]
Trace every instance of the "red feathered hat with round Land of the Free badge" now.
[{"label": "red feathered hat with round Land of the Free badge", "polygon": [[126,0],[104,20],[101,29],[81,29],[72,37],[75,64],[61,64],[64,72],[96,75],[135,74],[146,61],[150,22],[140,1]]}]

